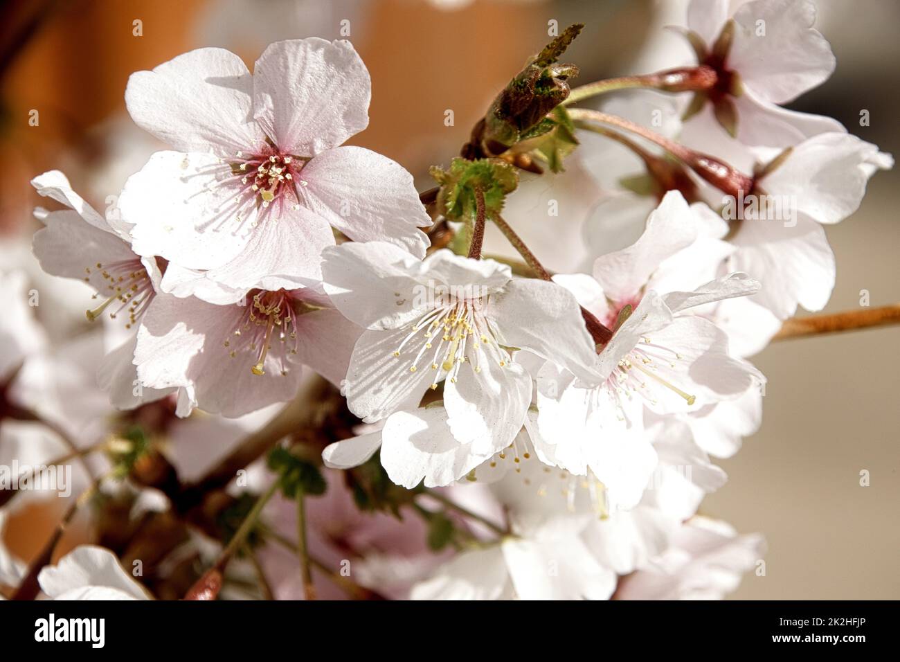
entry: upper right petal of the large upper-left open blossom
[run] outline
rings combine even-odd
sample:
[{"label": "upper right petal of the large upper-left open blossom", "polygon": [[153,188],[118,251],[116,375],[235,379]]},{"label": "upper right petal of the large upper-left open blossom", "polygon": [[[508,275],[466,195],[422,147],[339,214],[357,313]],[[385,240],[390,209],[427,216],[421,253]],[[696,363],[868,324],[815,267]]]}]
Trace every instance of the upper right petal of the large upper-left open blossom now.
[{"label": "upper right petal of the large upper-left open blossom", "polygon": [[276,41],[253,69],[253,114],[280,150],[311,157],[369,123],[372,82],[349,41]]}]

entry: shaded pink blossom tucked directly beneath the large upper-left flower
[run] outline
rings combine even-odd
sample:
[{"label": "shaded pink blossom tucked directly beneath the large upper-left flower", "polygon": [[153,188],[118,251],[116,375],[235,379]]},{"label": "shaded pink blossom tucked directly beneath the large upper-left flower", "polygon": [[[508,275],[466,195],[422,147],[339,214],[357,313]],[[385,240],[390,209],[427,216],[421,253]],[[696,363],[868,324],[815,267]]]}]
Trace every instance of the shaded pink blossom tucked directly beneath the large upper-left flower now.
[{"label": "shaded pink blossom tucked directly beneath the large upper-left flower", "polygon": [[134,364],[141,384],[184,389],[179,415],[200,407],[237,417],[290,400],[303,365],[339,383],[358,335],[312,290],[254,289],[230,305],[158,295],[140,322]]}]

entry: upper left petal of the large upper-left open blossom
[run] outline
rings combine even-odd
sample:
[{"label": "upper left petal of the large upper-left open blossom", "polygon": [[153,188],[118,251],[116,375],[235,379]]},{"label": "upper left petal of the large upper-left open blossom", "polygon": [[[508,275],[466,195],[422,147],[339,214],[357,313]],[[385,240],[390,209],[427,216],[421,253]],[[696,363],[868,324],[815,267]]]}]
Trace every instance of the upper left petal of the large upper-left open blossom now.
[{"label": "upper left petal of the large upper-left open blossom", "polygon": [[141,128],[175,150],[233,157],[266,138],[250,117],[252,91],[253,78],[237,55],[197,49],[131,74],[125,104]]}]

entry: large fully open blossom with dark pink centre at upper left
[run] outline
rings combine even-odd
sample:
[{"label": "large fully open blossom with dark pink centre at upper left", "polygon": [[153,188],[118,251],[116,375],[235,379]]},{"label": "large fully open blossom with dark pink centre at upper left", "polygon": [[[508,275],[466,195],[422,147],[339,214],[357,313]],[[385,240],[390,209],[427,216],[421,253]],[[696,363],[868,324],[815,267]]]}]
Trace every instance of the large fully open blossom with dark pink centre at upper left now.
[{"label": "large fully open blossom with dark pink centre at upper left", "polygon": [[400,165],[340,147],[368,124],[370,80],[348,41],[277,41],[251,75],[199,49],[130,78],[131,117],[176,151],[130,178],[122,213],[141,255],[175,264],[165,292],[213,303],[315,285],[332,227],[421,258],[430,224]]}]

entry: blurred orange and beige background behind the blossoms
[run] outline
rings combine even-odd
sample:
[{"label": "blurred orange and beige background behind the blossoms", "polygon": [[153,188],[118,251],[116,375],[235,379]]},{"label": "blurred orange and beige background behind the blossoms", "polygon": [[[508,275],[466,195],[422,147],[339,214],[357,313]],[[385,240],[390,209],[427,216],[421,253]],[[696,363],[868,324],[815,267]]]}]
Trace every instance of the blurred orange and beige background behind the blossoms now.
[{"label": "blurred orange and beige background behind the blossoms", "polygon": [[[548,22],[560,29],[586,24],[565,59],[581,67],[581,82],[589,82],[689,61],[680,41],[662,30],[682,23],[685,4],[0,2],[0,270],[34,272],[31,208],[40,198],[28,184],[31,177],[59,168],[103,209],[159,149],[125,113],[125,85],[133,71],[185,50],[220,46],[249,64],[271,41],[350,39],[373,80],[370,127],[352,142],[399,161],[424,189],[430,186],[428,166],[446,165],[455,156],[493,96],[547,41]],[[828,82],[792,107],[832,115],[881,150],[900,153],[900,4],[817,5],[816,27],[831,42],[838,66]],[[860,126],[863,109],[869,110],[869,126]],[[32,110],[39,112],[37,126],[29,123]],[[453,111],[450,126],[447,110]],[[592,185],[577,162],[563,177],[563,186],[590,202]],[[562,207],[559,219],[527,218],[551,186],[533,184],[534,195],[523,195],[526,202],[508,213],[527,238],[553,242],[564,228],[551,222],[571,230],[581,220],[572,207]],[[874,306],[900,301],[898,204],[900,169],[880,173],[859,213],[827,229],[838,278],[826,311],[858,307],[861,290],[869,291]],[[71,333],[73,325],[77,331],[79,316],[84,319],[89,294],[73,286],[67,298],[66,305],[40,312],[51,337]],[[900,598],[898,340],[892,328],[786,340],[753,358],[769,377],[762,429],[721,463],[730,480],[701,511],[768,540],[765,576],[746,576],[735,598]],[[870,475],[866,487],[860,486],[864,469]],[[17,514],[5,527],[7,545],[31,558],[57,517],[46,508]]]}]

